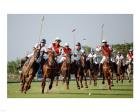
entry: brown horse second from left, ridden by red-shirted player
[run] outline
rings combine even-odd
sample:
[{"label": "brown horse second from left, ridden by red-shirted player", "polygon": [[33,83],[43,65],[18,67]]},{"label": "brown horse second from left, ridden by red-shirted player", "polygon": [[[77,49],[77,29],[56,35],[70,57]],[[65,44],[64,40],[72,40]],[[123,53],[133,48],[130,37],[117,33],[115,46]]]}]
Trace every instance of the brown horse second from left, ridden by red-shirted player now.
[{"label": "brown horse second from left, ridden by red-shirted player", "polygon": [[45,85],[46,85],[46,78],[51,79],[49,88],[47,90],[47,92],[49,92],[49,90],[51,90],[52,85],[53,85],[53,81],[54,81],[54,77],[56,74],[56,61],[55,61],[55,53],[49,52],[48,53],[48,60],[44,61],[42,63],[42,74],[43,74],[43,79],[42,79],[42,93],[44,94],[44,89],[45,89]]}]

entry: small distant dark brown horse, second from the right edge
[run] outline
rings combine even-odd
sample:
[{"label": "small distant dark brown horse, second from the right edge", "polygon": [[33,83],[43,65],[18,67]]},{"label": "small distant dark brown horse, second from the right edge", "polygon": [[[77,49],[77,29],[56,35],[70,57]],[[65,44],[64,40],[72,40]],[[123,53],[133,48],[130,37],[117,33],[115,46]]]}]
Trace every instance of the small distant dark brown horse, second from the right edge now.
[{"label": "small distant dark brown horse, second from the right edge", "polygon": [[124,73],[125,73],[125,66],[123,65],[123,60],[119,59],[117,63],[117,76],[116,76],[117,83],[119,80],[121,80],[121,82],[123,83]]}]

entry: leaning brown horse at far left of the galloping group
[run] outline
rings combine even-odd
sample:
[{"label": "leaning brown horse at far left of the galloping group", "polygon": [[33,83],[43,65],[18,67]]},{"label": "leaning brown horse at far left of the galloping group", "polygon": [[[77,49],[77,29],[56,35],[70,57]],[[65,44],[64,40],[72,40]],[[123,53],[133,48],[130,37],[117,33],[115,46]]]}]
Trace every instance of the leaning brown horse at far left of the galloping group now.
[{"label": "leaning brown horse at far left of the galloping group", "polygon": [[27,90],[31,87],[31,82],[37,73],[39,64],[36,62],[39,57],[40,50],[35,50],[34,55],[29,58],[23,65],[20,73],[21,92],[26,94]]}]

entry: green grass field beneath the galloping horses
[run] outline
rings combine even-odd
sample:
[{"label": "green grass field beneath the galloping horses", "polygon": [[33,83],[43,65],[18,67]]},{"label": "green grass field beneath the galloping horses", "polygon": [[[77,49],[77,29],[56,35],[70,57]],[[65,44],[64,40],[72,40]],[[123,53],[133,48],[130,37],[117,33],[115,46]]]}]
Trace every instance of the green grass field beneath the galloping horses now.
[{"label": "green grass field beneath the galloping horses", "polygon": [[[46,82],[45,91],[47,91],[47,87],[48,82]],[[27,94],[20,92],[20,83],[8,83],[7,89],[8,98],[133,98],[133,83],[128,83],[128,80],[125,80],[123,84],[114,81],[112,90],[108,90],[107,83],[102,85],[101,81],[98,81],[97,86],[92,84],[89,85],[89,88],[80,90],[77,89],[75,81],[70,81],[69,90],[66,90],[66,86],[62,82],[59,82],[58,86],[55,86],[54,82],[52,90],[45,94],[41,94],[40,82],[33,82]]]}]

